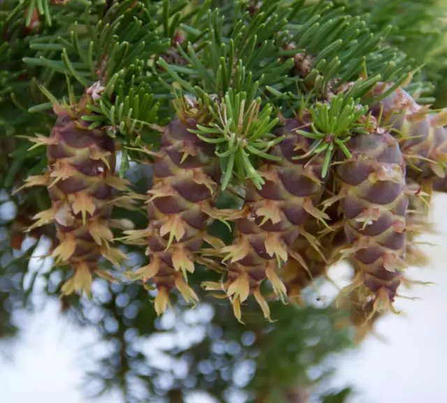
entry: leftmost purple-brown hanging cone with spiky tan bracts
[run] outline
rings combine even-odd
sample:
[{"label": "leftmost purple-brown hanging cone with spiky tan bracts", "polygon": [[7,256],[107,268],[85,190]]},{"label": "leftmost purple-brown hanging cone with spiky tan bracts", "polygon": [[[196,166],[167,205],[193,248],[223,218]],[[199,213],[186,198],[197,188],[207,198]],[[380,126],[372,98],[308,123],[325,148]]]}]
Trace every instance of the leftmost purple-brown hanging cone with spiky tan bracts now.
[{"label": "leftmost purple-brown hanging cone with spiky tan bracts", "polygon": [[[126,190],[127,181],[115,176],[115,145],[104,129],[89,129],[87,92],[74,106],[54,105],[57,120],[49,137],[37,135],[30,140],[47,146],[47,171],[31,176],[25,186],[45,185],[52,206],[36,214],[34,225],[54,223],[59,245],[52,251],[55,264],[70,264],[73,277],[62,288],[89,294],[92,274],[109,278],[98,269],[101,257],[119,266],[124,253],[112,248],[110,226],[122,222],[110,220],[112,190]],[[33,146],[34,148],[35,146]]]}]

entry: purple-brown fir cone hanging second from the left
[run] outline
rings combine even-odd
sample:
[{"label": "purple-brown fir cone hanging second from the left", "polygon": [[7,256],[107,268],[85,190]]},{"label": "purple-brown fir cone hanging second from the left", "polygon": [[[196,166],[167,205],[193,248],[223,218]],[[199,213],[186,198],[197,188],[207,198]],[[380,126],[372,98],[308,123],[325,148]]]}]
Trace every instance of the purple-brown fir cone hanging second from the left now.
[{"label": "purple-brown fir cone hanging second from the left", "polygon": [[158,293],[157,313],[169,304],[169,292],[175,288],[188,302],[198,300],[187,284],[186,274],[194,271],[198,250],[207,241],[223,244],[207,233],[216,218],[213,202],[217,198],[221,171],[214,147],[190,130],[200,117],[188,106],[162,132],[161,148],[153,164],[153,186],[147,197],[149,226],[126,232],[129,241],[145,238],[149,264],[131,274],[132,278],[152,281]]}]

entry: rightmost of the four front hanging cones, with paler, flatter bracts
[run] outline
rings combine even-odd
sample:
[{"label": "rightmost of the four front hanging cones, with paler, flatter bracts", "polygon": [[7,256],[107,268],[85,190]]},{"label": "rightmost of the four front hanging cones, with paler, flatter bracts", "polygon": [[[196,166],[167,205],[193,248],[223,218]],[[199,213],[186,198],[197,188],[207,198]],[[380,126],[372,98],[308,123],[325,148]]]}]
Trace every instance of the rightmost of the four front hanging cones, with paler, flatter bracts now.
[{"label": "rightmost of the four front hanging cones, with paler, flatter bracts", "polygon": [[350,246],[344,256],[351,255],[357,272],[348,290],[365,302],[372,295],[372,316],[392,306],[405,266],[405,164],[397,141],[379,127],[351,137],[346,146],[352,157],[337,167],[337,197]]}]

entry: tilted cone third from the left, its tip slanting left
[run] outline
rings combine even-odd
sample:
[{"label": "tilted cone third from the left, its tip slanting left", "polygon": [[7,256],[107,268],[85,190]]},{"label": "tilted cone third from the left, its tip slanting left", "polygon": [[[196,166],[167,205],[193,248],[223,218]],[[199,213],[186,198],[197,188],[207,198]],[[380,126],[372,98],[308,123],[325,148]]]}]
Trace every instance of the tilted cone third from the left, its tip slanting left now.
[{"label": "tilted cone third from the left, its tip slanting left", "polygon": [[[247,185],[242,217],[237,218],[233,245],[222,252],[228,260],[228,280],[223,284],[231,298],[235,316],[241,318],[240,304],[253,294],[266,318],[270,309],[261,295],[261,284],[268,279],[276,295],[286,295],[277,274],[279,266],[296,255],[291,246],[298,236],[313,239],[304,227],[307,218],[328,218],[316,208],[324,190],[321,171],[323,158],[303,157],[312,141],[297,133],[308,122],[291,119],[277,135],[284,136],[270,153],[278,161],[264,160],[258,174],[265,182],[261,189]],[[207,283],[208,289],[220,290],[220,284]]]}]

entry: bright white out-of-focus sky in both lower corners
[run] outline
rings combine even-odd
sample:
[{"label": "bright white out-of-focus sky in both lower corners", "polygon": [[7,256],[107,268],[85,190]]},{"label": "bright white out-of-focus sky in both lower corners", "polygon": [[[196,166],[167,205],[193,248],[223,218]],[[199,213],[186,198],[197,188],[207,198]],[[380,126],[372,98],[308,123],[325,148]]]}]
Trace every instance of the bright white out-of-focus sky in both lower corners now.
[{"label": "bright white out-of-focus sky in both lower corners", "polygon": [[[438,403],[445,401],[447,379],[447,195],[434,199],[437,236],[421,241],[427,247],[432,267],[410,269],[412,278],[437,285],[416,286],[406,295],[421,301],[401,299],[397,307],[405,315],[388,316],[376,330],[386,341],[368,339],[359,351],[339,362],[337,386],[353,383],[358,395],[352,403]],[[343,270],[341,269],[340,273]],[[330,292],[330,291],[328,291]],[[2,403],[85,403],[79,388],[83,347],[95,339],[91,330],[80,330],[59,316],[59,306],[24,320],[26,327],[13,348],[0,348],[0,395]],[[7,355],[10,351],[12,360]],[[85,350],[84,350],[85,351]],[[208,402],[203,398],[192,402]],[[113,395],[94,403],[124,403]]]}]

